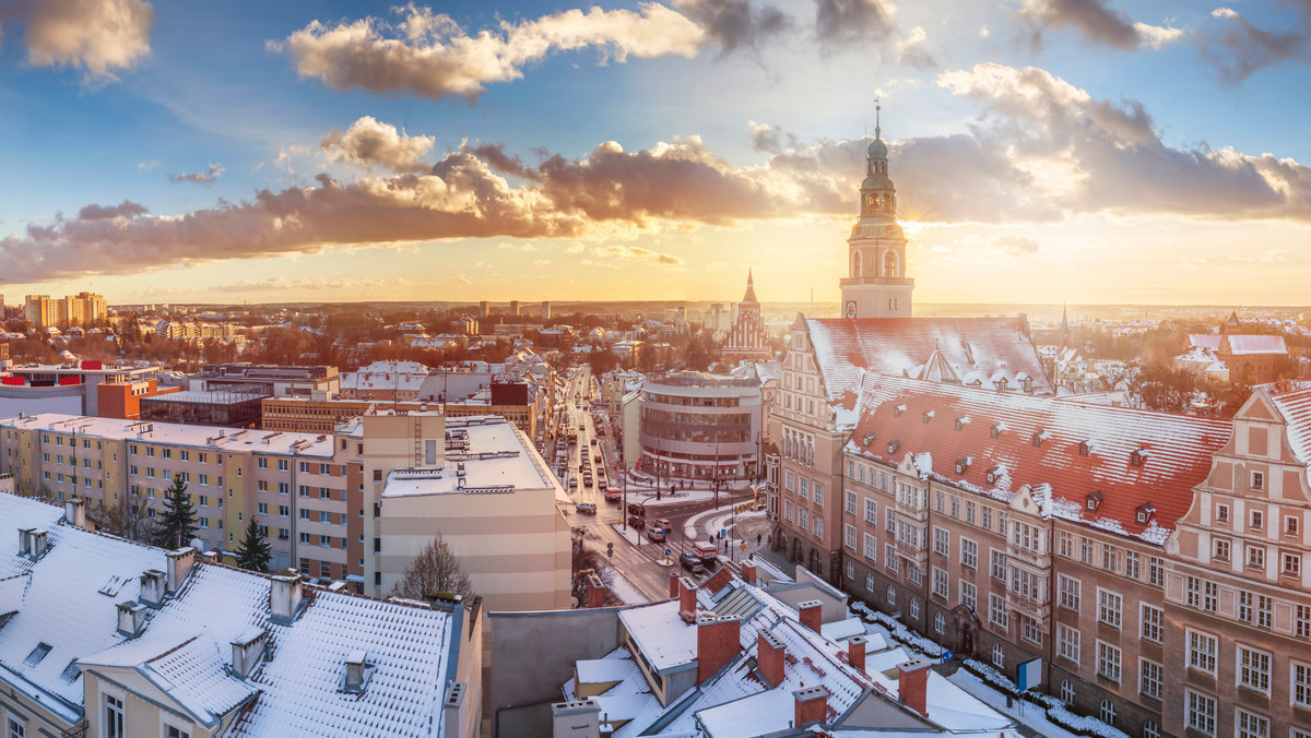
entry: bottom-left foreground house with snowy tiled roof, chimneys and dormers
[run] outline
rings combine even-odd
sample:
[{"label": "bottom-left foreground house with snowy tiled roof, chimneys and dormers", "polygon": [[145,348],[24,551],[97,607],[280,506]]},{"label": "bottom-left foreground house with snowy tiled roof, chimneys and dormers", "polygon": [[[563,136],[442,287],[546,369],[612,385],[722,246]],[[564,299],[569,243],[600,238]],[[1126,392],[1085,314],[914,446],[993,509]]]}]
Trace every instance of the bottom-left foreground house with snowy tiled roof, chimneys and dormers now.
[{"label": "bottom-left foreground house with snowy tiled roof, chimneys and dormers", "polygon": [[81,518],[0,494],[7,738],[479,734],[479,603],[362,598]]}]

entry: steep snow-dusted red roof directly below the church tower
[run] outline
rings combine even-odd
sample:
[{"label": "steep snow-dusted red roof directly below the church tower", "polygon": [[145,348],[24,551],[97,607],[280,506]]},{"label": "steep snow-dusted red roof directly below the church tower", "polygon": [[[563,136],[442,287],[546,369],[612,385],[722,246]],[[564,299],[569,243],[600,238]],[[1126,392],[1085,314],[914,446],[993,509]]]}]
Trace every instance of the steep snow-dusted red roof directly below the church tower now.
[{"label": "steep snow-dusted red roof directly below the church tower", "polygon": [[945,363],[968,387],[995,389],[1004,379],[1023,391],[1028,378],[1033,395],[1054,392],[1019,319],[809,319],[806,326],[830,401],[856,389],[863,372],[919,376],[931,362]]}]

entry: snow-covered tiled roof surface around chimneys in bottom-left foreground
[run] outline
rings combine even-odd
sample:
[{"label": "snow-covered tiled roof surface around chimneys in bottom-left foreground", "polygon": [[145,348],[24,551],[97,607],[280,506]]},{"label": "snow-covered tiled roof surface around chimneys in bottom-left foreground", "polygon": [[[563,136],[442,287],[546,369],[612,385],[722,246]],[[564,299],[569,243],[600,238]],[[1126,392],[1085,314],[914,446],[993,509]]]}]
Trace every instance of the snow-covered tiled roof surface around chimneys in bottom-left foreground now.
[{"label": "snow-covered tiled roof surface around chimneys in bottom-left foreground", "polygon": [[[30,572],[16,615],[0,625],[0,682],[28,692],[69,724],[83,712],[81,671],[132,669],[202,722],[241,708],[235,737],[351,738],[443,733],[442,700],[451,657],[450,612],[305,589],[302,615],[270,619],[270,578],[195,564],[176,595],[147,613],[144,634],[115,629],[119,603],[140,594],[139,577],[164,570],[165,552],[59,523],[43,502],[0,494],[0,520],[49,530],[37,561],[0,536],[0,579]],[[110,594],[113,592],[113,594]],[[241,682],[228,671],[237,637],[266,632],[271,661]],[[45,654],[34,657],[45,644]],[[363,693],[345,693],[349,654],[364,651],[372,676]],[[212,722],[211,722],[212,725]]]}]

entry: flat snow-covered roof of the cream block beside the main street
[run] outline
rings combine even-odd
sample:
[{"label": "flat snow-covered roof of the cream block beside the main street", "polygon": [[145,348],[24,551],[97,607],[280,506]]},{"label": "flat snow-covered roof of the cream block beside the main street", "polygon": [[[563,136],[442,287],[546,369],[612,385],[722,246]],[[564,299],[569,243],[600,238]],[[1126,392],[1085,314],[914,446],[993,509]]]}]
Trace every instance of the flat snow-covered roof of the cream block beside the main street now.
[{"label": "flat snow-covered roof of the cream block beside the main street", "polygon": [[448,419],[446,430],[447,435],[467,434],[468,451],[447,451],[440,468],[393,471],[387,476],[384,498],[496,488],[553,490],[558,484],[523,431],[501,417]]}]

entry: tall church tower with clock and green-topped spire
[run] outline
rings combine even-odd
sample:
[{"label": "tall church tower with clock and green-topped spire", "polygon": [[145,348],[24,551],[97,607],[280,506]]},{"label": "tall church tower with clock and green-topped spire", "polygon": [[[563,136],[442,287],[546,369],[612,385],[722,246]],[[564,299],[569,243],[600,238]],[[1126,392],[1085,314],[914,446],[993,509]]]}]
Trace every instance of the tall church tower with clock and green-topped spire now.
[{"label": "tall church tower with clock and green-topped spire", "polygon": [[[877,115],[881,107],[874,110]],[[850,274],[840,282],[842,317],[911,316],[915,281],[906,278],[906,235],[897,224],[897,189],[888,177],[888,144],[881,132],[876,122],[860,184],[860,220],[847,239]]]}]

